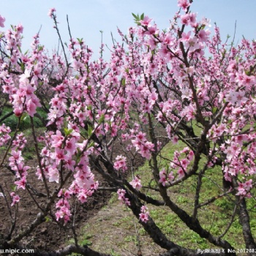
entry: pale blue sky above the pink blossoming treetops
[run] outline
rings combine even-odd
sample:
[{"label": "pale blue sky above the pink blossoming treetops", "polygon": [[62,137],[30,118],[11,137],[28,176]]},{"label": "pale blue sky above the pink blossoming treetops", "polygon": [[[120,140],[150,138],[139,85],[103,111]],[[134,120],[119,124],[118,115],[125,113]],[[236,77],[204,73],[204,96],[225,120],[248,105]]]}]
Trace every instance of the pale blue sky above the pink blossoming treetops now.
[{"label": "pale blue sky above the pink blossoming treetops", "polygon": [[[10,28],[10,24],[23,25],[22,49],[25,51],[42,26],[40,43],[48,50],[57,48],[58,36],[53,29],[53,20],[48,17],[48,10],[52,7],[56,8],[64,42],[69,40],[68,15],[72,37],[85,39],[86,44],[94,51],[94,59],[99,57],[100,31],[103,31],[103,42],[111,47],[111,32],[120,41],[116,28],[127,34],[128,28],[135,26],[132,12],[148,15],[160,29],[165,29],[178,11],[176,0],[0,0],[0,15],[6,19],[4,29]],[[212,26],[217,23],[222,39],[227,34],[233,37],[235,23],[235,42],[239,42],[243,36],[256,39],[255,0],[194,0],[191,10],[197,12],[198,18],[209,18]],[[0,31],[4,29],[0,28]],[[108,56],[107,49],[104,54]]]}]

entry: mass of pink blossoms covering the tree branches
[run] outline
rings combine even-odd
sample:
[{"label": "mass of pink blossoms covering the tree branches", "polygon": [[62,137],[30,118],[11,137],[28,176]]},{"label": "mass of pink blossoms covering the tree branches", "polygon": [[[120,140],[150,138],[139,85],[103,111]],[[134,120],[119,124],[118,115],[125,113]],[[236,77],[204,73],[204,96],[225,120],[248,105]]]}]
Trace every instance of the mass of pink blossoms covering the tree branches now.
[{"label": "mass of pink blossoms covering the tree branches", "polygon": [[[71,218],[72,197],[86,203],[93,195],[99,186],[94,170],[124,188],[120,183],[137,154],[154,162],[153,178],[162,189],[195,174],[206,154],[204,170],[222,165],[227,181],[239,181],[236,195],[249,197],[256,173],[256,44],[243,39],[238,47],[230,47],[217,27],[210,37],[208,20],[198,20],[190,4],[178,0],[180,11],[169,30],[160,30],[142,15],[127,36],[118,31],[127,46],[116,42],[110,61],[91,61],[92,50],[83,39],[71,38],[62,57],[56,52],[49,56],[39,45],[38,34],[31,51],[23,54],[21,25],[1,34],[1,92],[12,104],[18,124],[28,116],[33,127],[37,108],[48,116],[45,134],[40,139],[33,134],[36,175],[48,197],[52,187],[59,193],[58,201],[54,197],[57,220],[66,223]],[[50,9],[48,15],[57,26],[56,10]],[[4,21],[0,15],[0,27]],[[26,138],[17,130],[11,140],[10,133],[2,124],[0,146],[11,142],[6,159],[15,185],[26,189]],[[180,142],[186,146],[165,159],[167,168],[160,167],[158,159],[165,158],[162,148]],[[116,146],[122,151],[117,157]],[[140,176],[129,184],[141,189]],[[118,200],[129,206],[125,195],[125,189],[118,189]],[[13,194],[12,200],[15,205],[19,197]],[[146,206],[140,220],[148,221]]]}]

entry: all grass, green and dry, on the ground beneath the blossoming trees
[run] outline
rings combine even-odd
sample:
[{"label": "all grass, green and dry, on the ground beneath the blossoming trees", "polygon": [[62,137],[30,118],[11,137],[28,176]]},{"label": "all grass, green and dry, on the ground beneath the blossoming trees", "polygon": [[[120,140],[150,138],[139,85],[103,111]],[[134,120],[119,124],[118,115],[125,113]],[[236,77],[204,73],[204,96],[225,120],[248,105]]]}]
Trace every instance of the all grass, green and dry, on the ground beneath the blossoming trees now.
[{"label": "all grass, green and dry, on the ground beneath the blossoming trees", "polygon": [[[9,111],[4,109],[5,113]],[[4,113],[4,114],[5,114]],[[40,113],[43,114],[43,113]],[[38,118],[34,118],[37,132],[42,132],[42,122]],[[14,115],[7,118],[4,121],[7,126],[16,127],[18,118]],[[20,130],[25,133],[26,138],[31,138],[31,129],[29,116],[24,116]],[[42,128],[39,128],[42,127]],[[200,128],[195,127],[195,134],[200,135]],[[167,144],[162,150],[162,156],[165,159],[172,159],[175,151],[180,151],[184,148],[184,143],[178,142],[176,145]],[[34,147],[26,147],[23,151],[23,156],[26,159],[34,158]],[[166,167],[169,162],[165,159],[158,159],[161,167]],[[203,168],[206,159],[202,158],[199,164],[199,170]],[[135,175],[141,176],[141,182],[143,186],[150,185],[156,187],[156,181],[152,179],[151,167],[149,162],[139,168]],[[203,185],[201,188],[202,194],[200,195],[200,203],[206,202],[209,198],[219,195],[222,192],[222,171],[220,167],[213,167],[206,170],[205,176],[202,179]],[[192,176],[184,183],[178,184],[175,187],[169,189],[169,195],[171,200],[179,207],[187,211],[188,214],[192,214],[195,196],[195,187],[197,184],[197,176]],[[147,195],[161,200],[161,197],[157,192],[151,189],[143,189]],[[198,210],[197,218],[201,225],[206,230],[209,230],[214,236],[220,236],[227,227],[230,217],[233,214],[234,204],[232,202],[234,196],[220,197],[208,206],[204,206]],[[254,199],[247,200],[247,206],[251,211],[249,215],[251,218],[252,235],[256,236],[256,213],[254,211],[256,202]],[[148,206],[150,215],[162,230],[163,233],[174,243],[188,247],[191,249],[208,249],[214,248],[214,245],[208,243],[206,239],[200,238],[197,233],[190,230],[184,222],[182,222],[176,214],[170,211],[167,206],[155,207]],[[80,245],[91,246],[92,249],[99,250],[100,252],[110,253],[112,256],[125,255],[125,252],[135,252],[138,246],[137,234],[140,238],[140,243],[143,248],[148,250],[148,255],[152,252],[162,252],[150,238],[145,230],[138,224],[138,219],[132,215],[129,209],[120,207],[120,203],[117,200],[116,193],[110,198],[108,206],[102,208],[97,217],[89,219],[89,224],[80,230]],[[244,248],[243,239],[241,239],[241,225],[236,215],[233,224],[223,239],[230,242],[234,248]],[[69,241],[73,243],[73,241]],[[104,244],[104,246],[102,246]],[[107,244],[109,244],[107,246]],[[107,247],[106,247],[107,246]],[[73,254],[75,255],[75,254]],[[143,253],[147,255],[147,253]]]}]

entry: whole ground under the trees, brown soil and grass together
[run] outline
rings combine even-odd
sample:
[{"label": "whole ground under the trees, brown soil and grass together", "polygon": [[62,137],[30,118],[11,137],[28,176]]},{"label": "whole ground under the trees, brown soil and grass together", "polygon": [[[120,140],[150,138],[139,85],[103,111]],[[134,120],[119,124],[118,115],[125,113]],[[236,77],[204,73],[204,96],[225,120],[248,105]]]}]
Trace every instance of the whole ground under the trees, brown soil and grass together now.
[{"label": "whole ground under the trees, brown soil and grass together", "polygon": [[[15,127],[17,120],[15,116],[11,116],[7,119],[7,124]],[[37,184],[37,189],[42,189],[42,184],[37,182],[36,176],[34,176],[34,170],[37,167],[37,161],[35,160],[35,151],[33,146],[33,140],[31,136],[31,130],[28,129],[29,122],[27,123],[26,117],[22,120],[21,130],[23,130],[26,138],[28,138],[27,147],[23,152],[23,156],[26,159],[26,164],[31,166],[31,173],[29,174],[29,182],[31,184]],[[37,135],[44,132],[42,122],[37,120]],[[200,134],[200,129],[196,128],[197,135]],[[176,145],[168,143],[162,150],[159,162],[162,167],[168,165],[168,160],[173,156],[174,151],[184,148],[184,144],[179,142]],[[4,149],[2,147],[0,151],[0,157],[3,157]],[[118,154],[118,150],[115,152]],[[200,168],[203,168],[206,159],[200,160]],[[135,165],[135,175],[142,177],[143,192],[146,195],[153,197],[154,199],[161,200],[157,192],[149,187],[156,185],[151,179],[151,168],[149,162],[144,162],[141,157],[137,159]],[[1,178],[4,179],[6,186],[12,184],[13,178],[10,173],[6,171],[1,173]],[[104,181],[100,176],[97,176],[99,182],[104,184]],[[132,176],[130,177],[132,180]],[[222,171],[220,167],[210,168],[204,173],[203,187],[200,195],[200,203],[205,203],[211,198],[217,197],[223,193],[222,190]],[[189,214],[192,214],[194,200],[195,200],[195,188],[197,183],[197,176],[192,176],[186,182],[186,184],[178,184],[172,187],[168,192],[173,202],[183,208]],[[31,197],[26,193],[21,192],[22,202],[20,203],[17,230],[23,229],[29,222],[34,219],[37,214],[37,207],[31,200]],[[214,236],[225,238],[234,248],[243,248],[244,241],[241,239],[241,225],[238,220],[238,215],[233,214],[235,208],[235,197],[232,194],[219,197],[214,200],[213,203],[206,203],[206,206],[202,206],[198,211],[198,218],[200,223],[206,230],[211,230]],[[191,249],[213,249],[214,246],[209,244],[203,238],[200,238],[196,233],[184,225],[180,219],[170,211],[167,206],[150,206],[148,205],[150,216],[154,219],[163,233],[170,238],[174,243],[189,247]],[[256,236],[256,212],[255,212],[255,200],[249,200],[248,208],[250,209],[252,234]],[[141,252],[144,256],[159,255],[164,252],[162,248],[154,244],[151,238],[148,236],[143,227],[138,223],[132,212],[117,199],[116,192],[98,191],[86,204],[80,204],[78,206],[79,214],[76,216],[76,230],[78,232],[79,244],[83,246],[90,246],[99,252],[109,253],[112,256],[129,256],[137,255]],[[10,218],[7,214],[7,208],[4,204],[0,208],[0,232],[7,232],[10,227]],[[233,218],[233,219],[232,219]],[[232,219],[232,223],[230,222]],[[25,240],[23,240],[24,246],[30,246],[31,248],[49,251],[50,249],[57,249],[59,246],[65,246],[73,243],[72,230],[70,225],[64,227],[64,230],[53,222],[52,219],[47,219],[45,223],[39,226],[37,230],[31,233]]]}]

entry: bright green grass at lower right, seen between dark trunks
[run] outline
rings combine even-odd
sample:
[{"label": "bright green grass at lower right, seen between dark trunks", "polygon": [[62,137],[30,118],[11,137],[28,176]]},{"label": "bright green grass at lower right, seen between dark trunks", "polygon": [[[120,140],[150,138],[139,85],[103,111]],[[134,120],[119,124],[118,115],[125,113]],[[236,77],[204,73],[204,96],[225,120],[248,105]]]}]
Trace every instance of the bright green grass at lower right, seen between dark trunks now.
[{"label": "bright green grass at lower right, seen between dark trunks", "polygon": [[[181,150],[184,148],[184,143],[177,143],[176,145],[167,144],[162,151],[162,156],[165,158],[172,159],[173,153],[176,150]],[[163,167],[168,163],[166,160],[159,159],[160,165]],[[203,168],[206,159],[202,158],[199,164],[199,170]],[[155,181],[151,181],[151,170],[148,165],[148,162],[140,167],[138,173],[142,179],[142,184],[148,186],[148,184],[156,184]],[[203,185],[201,188],[200,194],[200,203],[206,202],[213,196],[217,196],[222,193],[222,170],[221,167],[213,167],[206,170],[206,177],[203,177]],[[171,187],[169,189],[168,195],[170,199],[173,200],[179,207],[187,211],[188,214],[192,215],[193,206],[194,206],[194,196],[195,196],[195,187],[197,184],[197,176],[192,176],[184,181],[184,183],[178,184],[177,186]],[[148,195],[156,199],[161,200],[161,197],[154,192],[154,190],[146,190]],[[198,210],[197,218],[200,221],[200,224],[206,230],[209,230],[214,236],[220,236],[228,223],[230,222],[230,217],[233,214],[234,203],[232,200],[235,200],[234,195],[230,197],[220,197],[214,203],[204,206]],[[247,200],[248,208],[255,207],[255,200]],[[162,230],[165,235],[170,238],[176,244],[180,246],[189,247],[192,249],[207,249],[214,248],[213,244],[210,244],[206,239],[200,238],[197,233],[189,230],[189,228],[181,222],[180,219],[170,211],[170,208],[167,207],[154,207],[148,206],[150,208],[150,215],[157,223],[159,228]],[[252,225],[252,234],[256,236],[256,213],[255,211],[250,211],[251,225]],[[238,215],[236,215],[233,224],[230,227],[230,230],[223,237],[226,239],[232,246],[235,248],[244,248],[241,225],[238,220]]]}]

